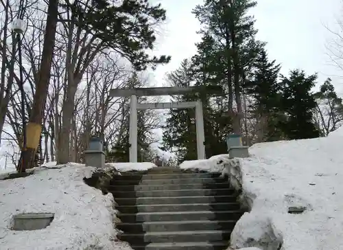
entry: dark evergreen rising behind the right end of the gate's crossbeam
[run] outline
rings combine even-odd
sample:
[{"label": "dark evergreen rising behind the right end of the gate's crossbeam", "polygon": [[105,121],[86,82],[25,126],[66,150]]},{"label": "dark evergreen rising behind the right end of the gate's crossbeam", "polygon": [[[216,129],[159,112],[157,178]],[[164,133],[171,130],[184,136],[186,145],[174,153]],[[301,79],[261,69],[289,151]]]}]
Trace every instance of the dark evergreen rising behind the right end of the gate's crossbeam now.
[{"label": "dark evergreen rising behind the right end of the gate's crossbeam", "polygon": [[[223,84],[226,76],[220,65],[220,47],[210,36],[204,36],[197,44],[198,53],[192,58],[193,78],[197,86]],[[224,84],[224,89],[226,85]],[[202,93],[204,111],[206,157],[227,153],[226,136],[233,132],[232,118],[228,116],[226,96],[213,97]]]}]

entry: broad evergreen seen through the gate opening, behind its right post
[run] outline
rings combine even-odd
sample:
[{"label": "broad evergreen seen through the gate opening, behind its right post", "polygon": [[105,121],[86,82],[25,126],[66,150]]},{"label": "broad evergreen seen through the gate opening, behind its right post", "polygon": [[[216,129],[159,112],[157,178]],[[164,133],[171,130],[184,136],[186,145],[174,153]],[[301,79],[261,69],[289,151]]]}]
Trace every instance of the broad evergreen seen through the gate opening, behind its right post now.
[{"label": "broad evergreen seen through the gate opening, behind its right post", "polygon": [[[202,64],[194,65],[189,60],[184,60],[179,69],[169,73],[169,82],[177,87],[188,87],[193,84],[198,87],[208,85],[206,79],[209,73],[202,70],[203,68],[204,65]],[[202,100],[204,113],[206,157],[224,154],[227,152],[226,135],[232,129],[230,118],[223,115],[224,98],[220,97],[222,98],[222,106],[218,106],[207,93],[182,95],[174,98],[174,101],[192,102],[199,98]],[[165,141],[165,146],[169,150],[178,148],[177,157],[179,162],[197,158],[196,120],[193,109],[170,111],[170,117],[167,119],[165,132],[163,133],[163,141]]]}]

